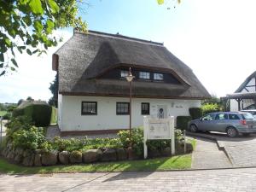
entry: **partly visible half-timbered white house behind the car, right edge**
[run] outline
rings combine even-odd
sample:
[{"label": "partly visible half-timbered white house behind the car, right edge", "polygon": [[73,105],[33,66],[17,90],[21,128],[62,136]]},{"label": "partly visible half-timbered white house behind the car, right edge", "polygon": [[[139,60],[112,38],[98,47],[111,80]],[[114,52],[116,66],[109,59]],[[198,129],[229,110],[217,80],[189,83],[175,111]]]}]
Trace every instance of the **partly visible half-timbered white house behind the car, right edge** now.
[{"label": "partly visible half-timbered white house behind the car, right edge", "polygon": [[256,106],[256,71],[238,87],[233,94],[228,94],[226,99],[230,100],[230,111],[241,109],[255,109]]}]

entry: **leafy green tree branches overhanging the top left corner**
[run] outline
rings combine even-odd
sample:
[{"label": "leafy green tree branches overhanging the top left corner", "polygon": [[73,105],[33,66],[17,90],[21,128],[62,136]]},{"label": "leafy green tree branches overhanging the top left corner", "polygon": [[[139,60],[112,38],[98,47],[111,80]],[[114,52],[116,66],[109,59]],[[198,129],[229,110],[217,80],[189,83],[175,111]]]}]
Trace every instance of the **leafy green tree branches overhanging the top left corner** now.
[{"label": "leafy green tree branches overhanging the top left corner", "polygon": [[45,53],[61,38],[56,29],[76,27],[86,31],[86,23],[77,17],[83,0],[0,0],[0,76],[15,71],[15,51],[28,55]]}]

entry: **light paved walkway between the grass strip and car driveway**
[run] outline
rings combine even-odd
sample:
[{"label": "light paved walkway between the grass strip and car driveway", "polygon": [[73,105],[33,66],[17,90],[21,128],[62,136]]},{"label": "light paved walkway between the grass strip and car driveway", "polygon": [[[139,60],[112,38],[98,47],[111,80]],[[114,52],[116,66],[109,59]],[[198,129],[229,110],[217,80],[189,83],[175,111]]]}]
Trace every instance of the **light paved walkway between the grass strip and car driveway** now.
[{"label": "light paved walkway between the grass strip and car driveway", "polygon": [[197,138],[196,148],[192,154],[193,169],[212,169],[232,167],[224,151],[219,150],[215,142]]}]

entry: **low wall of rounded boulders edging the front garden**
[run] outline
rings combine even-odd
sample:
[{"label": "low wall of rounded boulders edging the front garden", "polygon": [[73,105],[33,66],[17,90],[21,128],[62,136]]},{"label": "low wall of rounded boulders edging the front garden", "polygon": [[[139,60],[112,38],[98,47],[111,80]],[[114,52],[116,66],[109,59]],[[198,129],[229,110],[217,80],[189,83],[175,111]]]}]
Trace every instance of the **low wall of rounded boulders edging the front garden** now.
[{"label": "low wall of rounded boulders edging the front garden", "polygon": [[[183,143],[177,143],[177,154],[183,154]],[[187,143],[187,153],[193,150],[192,145]],[[23,166],[54,166],[79,163],[94,163],[116,160],[128,160],[128,151],[124,148],[98,148],[79,151],[49,151],[28,150],[23,148],[14,148],[11,142],[7,143],[6,148],[2,150],[3,157],[10,162],[21,164]],[[148,151],[148,157],[171,156],[171,148],[165,148],[162,151]],[[132,152],[133,160],[142,159],[143,156],[137,156]]]}]

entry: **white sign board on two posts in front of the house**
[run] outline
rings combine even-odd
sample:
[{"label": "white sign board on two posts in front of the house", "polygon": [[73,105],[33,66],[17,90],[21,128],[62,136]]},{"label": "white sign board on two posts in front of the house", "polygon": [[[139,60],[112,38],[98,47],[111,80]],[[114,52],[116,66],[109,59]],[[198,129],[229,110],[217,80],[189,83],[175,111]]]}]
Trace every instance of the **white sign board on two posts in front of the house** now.
[{"label": "white sign board on two posts in front of the house", "polygon": [[147,140],[171,139],[172,154],[175,154],[174,117],[170,119],[147,119],[144,117],[144,159],[148,157]]}]

